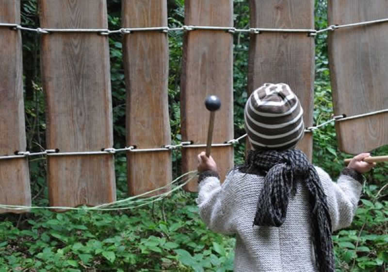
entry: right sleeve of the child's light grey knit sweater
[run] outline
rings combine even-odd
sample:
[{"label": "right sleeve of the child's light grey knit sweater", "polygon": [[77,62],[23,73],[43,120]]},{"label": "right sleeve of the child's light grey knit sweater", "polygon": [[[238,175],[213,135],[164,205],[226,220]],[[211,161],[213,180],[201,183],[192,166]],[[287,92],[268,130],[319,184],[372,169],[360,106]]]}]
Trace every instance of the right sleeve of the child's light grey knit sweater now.
[{"label": "right sleeve of the child's light grey knit sweater", "polygon": [[332,231],[349,226],[353,221],[361,196],[362,180],[360,179],[362,176],[345,170],[335,183],[324,170],[319,167],[316,167],[316,170],[327,196]]}]

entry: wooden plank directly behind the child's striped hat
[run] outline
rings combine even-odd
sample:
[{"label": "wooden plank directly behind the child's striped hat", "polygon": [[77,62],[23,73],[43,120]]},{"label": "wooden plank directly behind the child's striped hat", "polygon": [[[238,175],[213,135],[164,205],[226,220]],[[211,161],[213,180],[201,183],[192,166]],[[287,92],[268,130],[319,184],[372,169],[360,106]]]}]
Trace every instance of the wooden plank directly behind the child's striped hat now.
[{"label": "wooden plank directly behind the child's striped hat", "polygon": [[[251,27],[314,29],[313,0],[250,0]],[[251,34],[248,93],[264,83],[286,83],[298,96],[305,126],[313,125],[314,38],[297,33]],[[312,159],[312,135],[297,148]]]}]

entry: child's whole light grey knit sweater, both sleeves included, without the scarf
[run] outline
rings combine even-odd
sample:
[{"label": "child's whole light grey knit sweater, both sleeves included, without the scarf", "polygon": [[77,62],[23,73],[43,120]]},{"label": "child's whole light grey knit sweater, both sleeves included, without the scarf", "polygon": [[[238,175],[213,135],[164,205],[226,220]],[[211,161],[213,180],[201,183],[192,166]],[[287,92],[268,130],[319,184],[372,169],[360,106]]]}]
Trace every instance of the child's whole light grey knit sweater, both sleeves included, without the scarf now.
[{"label": "child's whole light grey knit sweater, both sleeves included, without the scarf", "polygon": [[[334,183],[324,170],[316,170],[333,231],[349,226],[361,194],[359,178],[342,174]],[[298,183],[281,227],[252,227],[263,182],[264,177],[239,170],[229,172],[222,185],[217,177],[204,178],[196,200],[202,220],[214,232],[236,234],[235,272],[315,272],[306,188]]]}]

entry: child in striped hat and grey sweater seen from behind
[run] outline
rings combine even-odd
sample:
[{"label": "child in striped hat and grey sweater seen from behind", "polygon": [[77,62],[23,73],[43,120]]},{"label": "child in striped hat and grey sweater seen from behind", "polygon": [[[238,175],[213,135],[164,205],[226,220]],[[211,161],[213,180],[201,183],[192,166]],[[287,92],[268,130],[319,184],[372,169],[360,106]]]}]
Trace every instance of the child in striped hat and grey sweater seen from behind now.
[{"label": "child in striped hat and grey sweater seen from behind", "polygon": [[[286,84],[265,84],[245,105],[252,151],[220,185],[212,157],[198,155],[197,204],[214,232],[236,234],[236,272],[334,272],[331,232],[349,226],[361,194],[353,158],[333,183],[294,147],[303,137],[303,109]],[[253,225],[252,225],[253,224]]]}]

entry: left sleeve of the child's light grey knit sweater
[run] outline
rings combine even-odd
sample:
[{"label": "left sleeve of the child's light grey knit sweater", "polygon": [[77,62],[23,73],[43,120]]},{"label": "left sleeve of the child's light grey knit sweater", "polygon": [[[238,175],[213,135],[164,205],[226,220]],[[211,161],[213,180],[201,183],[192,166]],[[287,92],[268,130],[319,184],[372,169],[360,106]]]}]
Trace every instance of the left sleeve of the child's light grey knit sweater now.
[{"label": "left sleeve of the child's light grey knit sweater", "polygon": [[[199,214],[210,230],[223,234],[235,232],[231,212],[233,211],[232,178],[229,174],[221,185],[215,175],[205,175],[198,185]],[[224,207],[227,206],[227,209]]]}]

